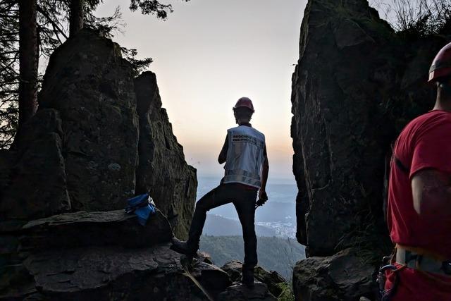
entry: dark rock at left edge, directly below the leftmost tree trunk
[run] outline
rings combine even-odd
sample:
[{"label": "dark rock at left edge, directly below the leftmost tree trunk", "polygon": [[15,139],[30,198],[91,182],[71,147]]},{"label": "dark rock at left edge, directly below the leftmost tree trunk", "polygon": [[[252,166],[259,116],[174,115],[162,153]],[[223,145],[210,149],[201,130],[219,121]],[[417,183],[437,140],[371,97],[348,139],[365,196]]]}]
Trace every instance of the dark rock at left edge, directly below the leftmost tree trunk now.
[{"label": "dark rock at left edge, directly below the leftmost tree trunk", "polygon": [[16,137],[16,150],[4,152],[1,219],[37,219],[70,209],[58,111],[42,109]]}]

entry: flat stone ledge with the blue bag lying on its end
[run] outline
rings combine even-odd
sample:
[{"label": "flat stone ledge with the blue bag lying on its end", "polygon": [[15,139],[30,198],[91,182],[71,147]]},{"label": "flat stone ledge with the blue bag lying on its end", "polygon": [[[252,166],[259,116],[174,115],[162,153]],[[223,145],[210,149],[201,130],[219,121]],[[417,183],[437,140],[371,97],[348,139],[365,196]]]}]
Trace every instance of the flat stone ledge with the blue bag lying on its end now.
[{"label": "flat stone ledge with the blue bag lying on its end", "polygon": [[49,250],[113,245],[150,247],[169,242],[171,226],[160,211],[149,217],[146,226],[135,214],[116,211],[79,211],[30,221],[20,238],[23,250]]}]

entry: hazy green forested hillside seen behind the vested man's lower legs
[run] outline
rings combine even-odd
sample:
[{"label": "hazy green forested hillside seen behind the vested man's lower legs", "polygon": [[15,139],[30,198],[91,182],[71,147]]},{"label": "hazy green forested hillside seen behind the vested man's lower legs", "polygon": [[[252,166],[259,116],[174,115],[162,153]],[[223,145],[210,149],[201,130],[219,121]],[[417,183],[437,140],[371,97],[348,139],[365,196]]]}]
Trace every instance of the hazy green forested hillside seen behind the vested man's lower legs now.
[{"label": "hazy green forested hillside seen behind the vested man's lower legs", "polygon": [[[242,261],[245,256],[242,236],[209,236],[200,240],[200,250],[211,254],[218,266],[232,259]],[[259,266],[277,271],[285,279],[292,278],[292,267],[300,259],[305,258],[304,247],[295,240],[259,237],[257,243]]]}]

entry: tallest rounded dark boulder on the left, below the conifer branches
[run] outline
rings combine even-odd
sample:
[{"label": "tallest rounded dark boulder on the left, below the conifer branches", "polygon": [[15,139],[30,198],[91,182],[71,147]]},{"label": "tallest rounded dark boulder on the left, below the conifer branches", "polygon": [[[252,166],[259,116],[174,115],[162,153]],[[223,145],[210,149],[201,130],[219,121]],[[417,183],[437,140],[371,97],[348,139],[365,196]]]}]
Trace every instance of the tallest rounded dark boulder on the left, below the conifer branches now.
[{"label": "tallest rounded dark boulder on the left, below the conifer branches", "polygon": [[133,69],[118,44],[82,31],[52,54],[39,109],[61,116],[74,210],[111,210],[135,195],[138,120]]}]

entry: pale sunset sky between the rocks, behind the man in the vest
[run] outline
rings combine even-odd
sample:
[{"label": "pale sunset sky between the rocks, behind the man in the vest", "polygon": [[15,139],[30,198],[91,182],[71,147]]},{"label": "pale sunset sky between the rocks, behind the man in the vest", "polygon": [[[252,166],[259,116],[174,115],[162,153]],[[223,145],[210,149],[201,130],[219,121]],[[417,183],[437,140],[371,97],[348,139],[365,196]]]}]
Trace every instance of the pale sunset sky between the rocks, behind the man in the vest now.
[{"label": "pale sunset sky between the rocks, behind the man in the vest", "polygon": [[[165,2],[167,3],[167,2]],[[291,75],[299,56],[305,0],[171,1],[166,21],[107,0],[97,16],[121,6],[126,25],[114,41],[152,57],[163,107],[198,176],[221,176],[217,163],[232,107],[252,99],[252,125],[266,135],[271,178],[292,176]]]}]

